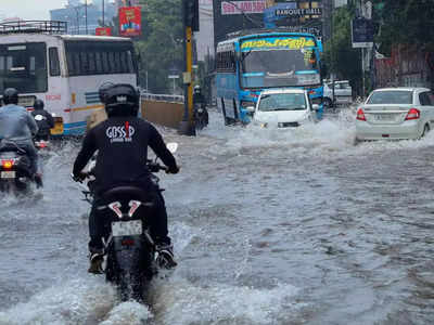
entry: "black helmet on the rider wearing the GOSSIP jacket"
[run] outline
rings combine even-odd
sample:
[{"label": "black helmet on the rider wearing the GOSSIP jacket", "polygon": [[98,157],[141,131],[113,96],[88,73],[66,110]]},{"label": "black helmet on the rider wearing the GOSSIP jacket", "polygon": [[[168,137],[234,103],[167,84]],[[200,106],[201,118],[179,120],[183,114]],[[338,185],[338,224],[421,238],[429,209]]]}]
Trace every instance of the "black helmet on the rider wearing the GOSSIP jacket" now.
[{"label": "black helmet on the rider wearing the GOSSIP jacket", "polygon": [[105,112],[112,116],[137,116],[140,96],[128,83],[117,83],[104,91]]}]

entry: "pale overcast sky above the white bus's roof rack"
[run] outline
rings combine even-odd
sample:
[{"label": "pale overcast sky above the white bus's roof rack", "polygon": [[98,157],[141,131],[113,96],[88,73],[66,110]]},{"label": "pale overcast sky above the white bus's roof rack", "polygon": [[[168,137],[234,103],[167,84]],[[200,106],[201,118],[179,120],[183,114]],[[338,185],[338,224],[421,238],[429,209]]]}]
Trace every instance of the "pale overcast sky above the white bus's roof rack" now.
[{"label": "pale overcast sky above the white bus's roof rack", "polygon": [[[90,1],[89,1],[90,2]],[[0,18],[50,20],[50,10],[65,6],[67,0],[0,0]]]}]

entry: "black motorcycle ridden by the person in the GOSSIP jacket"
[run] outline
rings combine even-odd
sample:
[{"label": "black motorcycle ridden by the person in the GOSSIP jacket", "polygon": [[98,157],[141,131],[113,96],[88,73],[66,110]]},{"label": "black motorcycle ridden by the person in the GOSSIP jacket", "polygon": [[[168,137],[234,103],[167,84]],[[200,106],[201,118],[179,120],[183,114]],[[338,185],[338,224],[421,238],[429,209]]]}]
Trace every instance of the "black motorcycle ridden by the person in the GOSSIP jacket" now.
[{"label": "black motorcycle ridden by the person in the GOSSIP jacket", "polygon": [[[175,153],[177,143],[168,143],[167,148]],[[85,200],[92,204],[92,182],[94,182],[93,158],[85,174],[87,190],[82,191]],[[152,173],[166,170],[157,160],[148,160],[146,166]],[[157,184],[159,179],[153,174]],[[159,188],[159,191],[164,191]],[[118,186],[103,193],[97,206],[101,218],[110,229],[110,234],[103,238],[105,280],[113,283],[122,301],[135,299],[144,300],[146,285],[157,274],[158,259],[155,243],[150,235],[149,214],[153,203],[146,192],[136,186]]]}]

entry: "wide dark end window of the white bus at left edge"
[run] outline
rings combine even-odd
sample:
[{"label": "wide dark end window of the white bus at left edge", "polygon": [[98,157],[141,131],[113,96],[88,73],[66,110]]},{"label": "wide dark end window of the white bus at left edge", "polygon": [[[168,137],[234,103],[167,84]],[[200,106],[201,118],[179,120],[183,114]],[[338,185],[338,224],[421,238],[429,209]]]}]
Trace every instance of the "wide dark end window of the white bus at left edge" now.
[{"label": "wide dark end window of the white bus at left edge", "polygon": [[47,82],[44,43],[0,46],[0,93],[7,88],[20,93],[46,92]]}]

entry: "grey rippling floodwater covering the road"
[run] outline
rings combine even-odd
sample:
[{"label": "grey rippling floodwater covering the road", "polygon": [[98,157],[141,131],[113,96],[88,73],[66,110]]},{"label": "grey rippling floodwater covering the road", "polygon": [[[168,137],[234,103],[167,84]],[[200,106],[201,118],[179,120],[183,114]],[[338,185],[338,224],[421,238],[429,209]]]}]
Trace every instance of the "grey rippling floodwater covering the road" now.
[{"label": "grey rippling floodwater covering the road", "polygon": [[159,174],[179,262],[152,307],[87,273],[87,213],[46,161],[42,193],[0,200],[0,324],[432,324],[434,132],[354,145],[343,112],[291,130],[210,126]]}]

